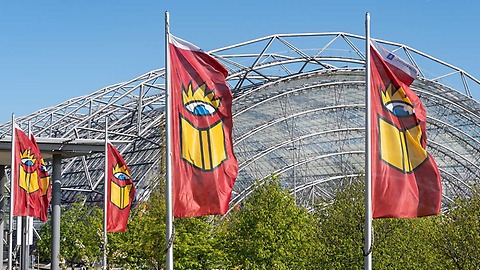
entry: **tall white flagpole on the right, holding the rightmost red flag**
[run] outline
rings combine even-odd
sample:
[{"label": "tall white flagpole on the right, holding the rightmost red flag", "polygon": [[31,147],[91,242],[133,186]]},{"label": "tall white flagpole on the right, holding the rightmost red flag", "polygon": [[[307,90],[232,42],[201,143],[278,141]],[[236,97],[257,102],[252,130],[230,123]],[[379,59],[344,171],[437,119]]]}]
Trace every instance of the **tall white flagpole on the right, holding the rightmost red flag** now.
[{"label": "tall white flagpole on the right, holding the rightmost red flag", "polygon": [[365,14],[365,246],[363,248],[364,269],[372,269],[372,173],[370,164],[372,162],[372,134],[370,127],[371,118],[371,86],[370,86],[370,13]]}]

